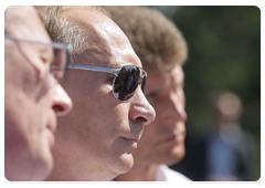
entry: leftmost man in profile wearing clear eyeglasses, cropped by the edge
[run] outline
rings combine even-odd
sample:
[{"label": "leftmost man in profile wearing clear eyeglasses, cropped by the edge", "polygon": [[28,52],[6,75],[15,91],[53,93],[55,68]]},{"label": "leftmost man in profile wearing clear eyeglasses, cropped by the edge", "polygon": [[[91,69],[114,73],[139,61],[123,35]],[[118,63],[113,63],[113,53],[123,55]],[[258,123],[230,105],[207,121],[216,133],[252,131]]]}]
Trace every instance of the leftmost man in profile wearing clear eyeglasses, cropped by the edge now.
[{"label": "leftmost man in profile wearing clear eyeglasses, cropped by the edge", "polygon": [[33,7],[4,7],[4,182],[40,182],[53,167],[56,116],[73,106],[57,83],[68,49]]}]

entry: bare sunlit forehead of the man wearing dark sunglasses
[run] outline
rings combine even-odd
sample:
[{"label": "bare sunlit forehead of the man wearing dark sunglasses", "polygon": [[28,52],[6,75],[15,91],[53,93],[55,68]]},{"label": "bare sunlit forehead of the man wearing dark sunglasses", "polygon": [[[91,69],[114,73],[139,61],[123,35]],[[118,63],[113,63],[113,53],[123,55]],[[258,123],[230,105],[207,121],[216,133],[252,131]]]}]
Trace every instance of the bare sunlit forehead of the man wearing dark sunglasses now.
[{"label": "bare sunlit forehead of the man wearing dark sunglasses", "polygon": [[[97,60],[102,61],[97,62],[97,65],[120,67],[126,64],[135,64],[141,66],[129,40],[108,17],[89,9],[73,9],[67,12],[67,15],[86,32],[86,48],[93,49],[94,52],[97,51],[97,56],[100,55]],[[95,53],[91,54],[95,55]]]}]

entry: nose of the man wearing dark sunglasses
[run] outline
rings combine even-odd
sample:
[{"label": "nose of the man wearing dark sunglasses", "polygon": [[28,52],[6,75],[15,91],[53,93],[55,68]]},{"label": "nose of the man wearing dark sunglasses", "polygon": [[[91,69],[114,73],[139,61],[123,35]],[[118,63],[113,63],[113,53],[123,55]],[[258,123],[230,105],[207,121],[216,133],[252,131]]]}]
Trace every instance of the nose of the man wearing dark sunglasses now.
[{"label": "nose of the man wearing dark sunglasses", "polygon": [[129,116],[132,121],[140,122],[144,126],[155,121],[156,112],[147,101],[140,87],[137,88],[130,103]]}]

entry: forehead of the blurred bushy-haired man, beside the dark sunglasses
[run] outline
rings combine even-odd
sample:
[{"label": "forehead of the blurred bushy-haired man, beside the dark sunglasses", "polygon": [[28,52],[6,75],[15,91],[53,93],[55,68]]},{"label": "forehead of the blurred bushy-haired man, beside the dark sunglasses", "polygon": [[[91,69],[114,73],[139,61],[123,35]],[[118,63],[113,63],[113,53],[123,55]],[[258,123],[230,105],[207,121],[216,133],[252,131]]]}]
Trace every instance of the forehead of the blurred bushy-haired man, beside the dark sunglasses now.
[{"label": "forehead of the blurred bushy-haired man, beside the dark sunglasses", "polygon": [[162,90],[171,86],[172,84],[182,84],[183,80],[184,73],[182,66],[177,65],[166,73],[157,72],[148,74],[146,90],[147,92],[152,90]]}]

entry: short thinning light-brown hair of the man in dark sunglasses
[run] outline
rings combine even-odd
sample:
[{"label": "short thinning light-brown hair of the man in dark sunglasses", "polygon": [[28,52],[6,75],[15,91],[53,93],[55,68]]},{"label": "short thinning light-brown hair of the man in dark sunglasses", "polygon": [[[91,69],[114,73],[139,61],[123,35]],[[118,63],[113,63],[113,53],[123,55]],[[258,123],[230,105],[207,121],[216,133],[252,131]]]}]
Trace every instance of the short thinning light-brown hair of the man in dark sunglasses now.
[{"label": "short thinning light-brown hair of the man in dark sunglasses", "polygon": [[95,6],[36,6],[35,8],[51,39],[54,42],[72,44],[72,62],[76,54],[85,51],[88,36],[78,24],[67,19],[67,11],[70,9],[87,9],[87,11],[94,10],[109,17],[103,8]]}]

